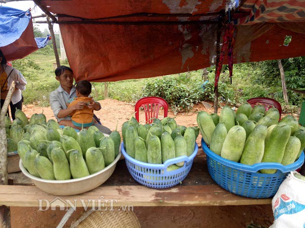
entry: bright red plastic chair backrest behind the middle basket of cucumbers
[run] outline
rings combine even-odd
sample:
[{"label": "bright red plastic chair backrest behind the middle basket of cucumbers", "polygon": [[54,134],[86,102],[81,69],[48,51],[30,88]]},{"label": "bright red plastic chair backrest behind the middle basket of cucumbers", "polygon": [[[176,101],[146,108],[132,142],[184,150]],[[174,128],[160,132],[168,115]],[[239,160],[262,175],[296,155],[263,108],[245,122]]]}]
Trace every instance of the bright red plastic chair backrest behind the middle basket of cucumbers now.
[{"label": "bright red plastic chair backrest behind the middle basket of cucumbers", "polygon": [[145,112],[146,123],[151,124],[153,122],[152,118],[158,118],[159,108],[164,108],[164,117],[167,117],[168,105],[163,98],[159,97],[145,97],[141,98],[136,102],[134,111],[136,112],[135,118],[139,121],[139,108],[143,107]]}]

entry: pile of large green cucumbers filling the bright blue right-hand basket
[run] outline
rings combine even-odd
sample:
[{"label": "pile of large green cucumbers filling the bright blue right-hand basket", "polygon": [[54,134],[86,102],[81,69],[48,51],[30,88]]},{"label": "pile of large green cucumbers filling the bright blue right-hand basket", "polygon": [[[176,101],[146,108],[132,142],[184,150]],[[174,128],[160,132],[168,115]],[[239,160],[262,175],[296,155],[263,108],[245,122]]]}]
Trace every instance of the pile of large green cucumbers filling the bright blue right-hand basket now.
[{"label": "pile of large green cucumbers filling the bright blue right-hand basket", "polygon": [[[237,111],[224,106],[220,115],[201,111],[197,123],[210,150],[231,161],[246,165],[260,162],[294,163],[305,148],[305,127],[292,115],[280,119],[276,108],[267,111],[261,104],[247,102]],[[273,174],[274,169],[260,170]]]}]

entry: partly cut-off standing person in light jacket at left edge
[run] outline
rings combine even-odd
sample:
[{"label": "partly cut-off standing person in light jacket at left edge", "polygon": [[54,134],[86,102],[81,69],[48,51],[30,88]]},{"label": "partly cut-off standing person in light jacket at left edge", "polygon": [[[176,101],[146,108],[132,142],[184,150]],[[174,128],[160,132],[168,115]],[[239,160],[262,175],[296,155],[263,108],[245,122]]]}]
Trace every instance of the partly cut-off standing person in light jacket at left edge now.
[{"label": "partly cut-off standing person in light jacket at left edge", "polygon": [[[1,108],[4,104],[8,90],[14,81],[15,91],[13,92],[12,99],[9,103],[12,119],[15,120],[16,109],[22,110],[23,97],[21,94],[22,90],[26,89],[27,80],[17,69],[7,65],[7,61],[3,52],[0,50],[0,89],[1,89]],[[9,116],[8,110],[7,114]]]}]

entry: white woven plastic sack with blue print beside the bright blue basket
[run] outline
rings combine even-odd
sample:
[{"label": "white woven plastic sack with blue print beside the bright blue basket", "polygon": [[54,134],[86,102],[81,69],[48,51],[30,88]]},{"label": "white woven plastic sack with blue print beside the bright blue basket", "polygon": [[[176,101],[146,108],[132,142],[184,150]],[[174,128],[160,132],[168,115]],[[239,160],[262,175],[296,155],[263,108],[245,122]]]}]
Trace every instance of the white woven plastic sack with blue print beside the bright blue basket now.
[{"label": "white woven plastic sack with blue print beside the bright blue basket", "polygon": [[305,180],[296,174],[288,174],[272,199],[274,224],[270,228],[305,228]]}]

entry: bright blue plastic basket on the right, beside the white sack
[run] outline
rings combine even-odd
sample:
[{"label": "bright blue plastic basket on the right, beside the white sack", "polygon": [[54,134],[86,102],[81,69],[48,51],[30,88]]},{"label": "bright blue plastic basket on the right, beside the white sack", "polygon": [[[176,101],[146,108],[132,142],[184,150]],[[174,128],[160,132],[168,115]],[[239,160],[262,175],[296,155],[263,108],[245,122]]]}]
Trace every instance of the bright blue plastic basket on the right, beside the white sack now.
[{"label": "bright blue plastic basket on the right, beside the white sack", "polygon": [[[262,162],[250,166],[218,156],[208,148],[203,139],[201,145],[207,154],[208,170],[213,180],[231,193],[251,198],[273,197],[288,173],[301,167],[305,157],[302,152],[297,161],[287,166],[274,162]],[[261,169],[277,169],[277,172],[258,173]]]}]

